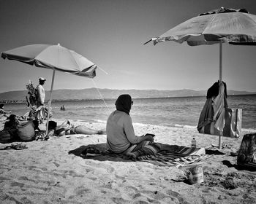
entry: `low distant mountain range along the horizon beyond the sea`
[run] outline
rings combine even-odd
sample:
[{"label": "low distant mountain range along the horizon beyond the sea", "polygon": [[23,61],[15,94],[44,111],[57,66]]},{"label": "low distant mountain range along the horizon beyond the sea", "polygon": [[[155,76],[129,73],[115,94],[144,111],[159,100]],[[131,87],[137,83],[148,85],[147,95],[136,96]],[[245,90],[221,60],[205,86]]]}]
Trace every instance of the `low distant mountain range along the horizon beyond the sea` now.
[{"label": "low distant mountain range along the horizon beyond the sea", "polygon": [[[89,88],[83,90],[53,90],[54,101],[67,100],[88,100],[100,99],[102,95],[105,99],[115,99],[118,95],[129,94],[132,98],[167,98],[167,97],[186,97],[186,96],[203,96],[206,95],[207,90],[110,90],[110,89],[96,89]],[[228,90],[227,95],[249,95],[256,94],[256,92],[246,92],[237,90]],[[27,95],[26,90],[9,91],[0,93],[0,101],[25,101]],[[46,99],[50,96],[50,91],[46,91]]]}]

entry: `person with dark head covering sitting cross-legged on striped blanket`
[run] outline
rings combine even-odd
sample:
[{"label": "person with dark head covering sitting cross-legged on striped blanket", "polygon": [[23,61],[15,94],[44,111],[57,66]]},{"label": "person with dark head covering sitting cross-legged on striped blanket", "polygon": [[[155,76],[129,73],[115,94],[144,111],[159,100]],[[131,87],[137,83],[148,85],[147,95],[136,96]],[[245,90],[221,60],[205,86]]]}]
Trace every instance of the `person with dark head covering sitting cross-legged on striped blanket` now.
[{"label": "person with dark head covering sitting cross-legged on striped blanket", "polygon": [[117,98],[116,111],[110,114],[107,121],[107,148],[111,152],[132,157],[137,157],[140,149],[145,154],[159,152],[161,145],[154,143],[154,135],[135,136],[132,118],[129,116],[132,104],[132,97],[128,94]]}]

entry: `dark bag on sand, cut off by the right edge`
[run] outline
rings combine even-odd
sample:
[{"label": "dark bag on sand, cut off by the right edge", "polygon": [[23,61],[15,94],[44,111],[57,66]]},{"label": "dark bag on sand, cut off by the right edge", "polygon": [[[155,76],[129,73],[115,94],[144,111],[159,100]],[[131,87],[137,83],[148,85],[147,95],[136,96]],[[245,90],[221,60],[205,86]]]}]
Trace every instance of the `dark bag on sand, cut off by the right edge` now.
[{"label": "dark bag on sand, cut off by the right edge", "polygon": [[244,135],[238,151],[237,165],[256,170],[256,133]]}]

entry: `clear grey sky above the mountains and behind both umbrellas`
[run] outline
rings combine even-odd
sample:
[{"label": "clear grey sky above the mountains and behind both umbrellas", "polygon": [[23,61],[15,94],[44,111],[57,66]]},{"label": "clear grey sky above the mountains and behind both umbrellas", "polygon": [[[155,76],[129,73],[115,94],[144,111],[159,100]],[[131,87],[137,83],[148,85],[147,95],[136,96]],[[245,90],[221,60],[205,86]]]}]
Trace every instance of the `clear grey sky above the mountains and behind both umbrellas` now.
[{"label": "clear grey sky above the mountains and behind both umbrellas", "polygon": [[[200,13],[227,7],[256,15],[255,0],[0,0],[0,52],[61,44],[101,69],[89,79],[56,71],[53,90],[91,87],[207,90],[219,79],[219,45],[143,44]],[[223,44],[228,90],[256,91],[256,47]],[[26,90],[53,71],[0,58],[0,93]]]}]

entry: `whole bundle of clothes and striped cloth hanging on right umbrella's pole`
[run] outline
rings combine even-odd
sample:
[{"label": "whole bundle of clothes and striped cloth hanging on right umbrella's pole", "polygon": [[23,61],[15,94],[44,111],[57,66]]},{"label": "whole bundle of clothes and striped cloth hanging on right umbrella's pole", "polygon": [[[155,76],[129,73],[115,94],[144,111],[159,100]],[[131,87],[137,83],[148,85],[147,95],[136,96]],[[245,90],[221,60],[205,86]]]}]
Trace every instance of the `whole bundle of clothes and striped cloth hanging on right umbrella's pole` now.
[{"label": "whole bundle of clothes and striped cloth hanging on right umbrella's pole", "polygon": [[225,82],[215,82],[208,89],[206,98],[197,125],[198,132],[230,138],[241,136],[242,109],[227,107]]}]

